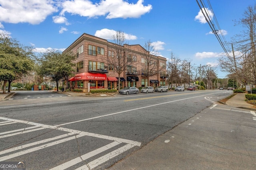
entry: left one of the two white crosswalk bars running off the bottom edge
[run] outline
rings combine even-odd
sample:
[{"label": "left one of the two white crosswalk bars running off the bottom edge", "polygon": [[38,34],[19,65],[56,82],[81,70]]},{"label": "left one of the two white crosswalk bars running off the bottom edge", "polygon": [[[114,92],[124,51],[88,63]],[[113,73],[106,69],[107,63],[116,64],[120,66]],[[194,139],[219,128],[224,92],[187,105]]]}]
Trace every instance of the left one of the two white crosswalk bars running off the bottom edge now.
[{"label": "left one of the two white crosswalk bars running off the bottom edge", "polygon": [[59,166],[56,166],[50,170],[64,170],[64,169],[69,168],[75,164],[78,164],[79,162],[82,162],[83,160],[86,160],[88,158],[91,158],[92,156],[95,156],[101,152],[104,152],[105,150],[115,147],[116,145],[119,145],[119,144],[120,144],[119,142],[114,141],[108,145],[105,145],[104,147],[100,147],[96,150],[86,153],[86,154],[82,155],[81,157],[74,158],[74,159],[72,159],[68,162],[65,162],[64,164],[60,164]]}]

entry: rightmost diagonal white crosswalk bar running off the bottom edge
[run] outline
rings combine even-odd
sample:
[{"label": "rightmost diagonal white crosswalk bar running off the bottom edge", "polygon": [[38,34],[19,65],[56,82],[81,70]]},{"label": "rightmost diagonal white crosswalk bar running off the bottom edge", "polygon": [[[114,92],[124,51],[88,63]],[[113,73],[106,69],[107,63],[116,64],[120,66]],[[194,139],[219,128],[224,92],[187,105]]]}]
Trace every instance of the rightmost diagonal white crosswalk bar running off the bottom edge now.
[{"label": "rightmost diagonal white crosswalk bar running off the bottom edge", "polygon": [[111,158],[114,158],[115,156],[118,156],[119,154],[131,149],[132,147],[134,147],[134,146],[127,144],[127,145],[120,147],[120,148],[100,157],[100,158],[93,160],[92,162],[89,162],[88,164],[86,164],[84,166],[77,168],[76,170],[91,170],[92,168],[99,166],[100,164],[110,160]]}]

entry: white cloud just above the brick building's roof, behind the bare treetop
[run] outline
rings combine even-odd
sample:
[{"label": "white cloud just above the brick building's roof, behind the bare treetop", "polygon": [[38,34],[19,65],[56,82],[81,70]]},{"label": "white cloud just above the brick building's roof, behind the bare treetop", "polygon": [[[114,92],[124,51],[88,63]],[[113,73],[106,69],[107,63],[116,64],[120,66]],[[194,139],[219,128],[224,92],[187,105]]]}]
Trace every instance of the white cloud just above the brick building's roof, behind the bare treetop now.
[{"label": "white cloud just above the brick building's roof, behind the bare treetop", "polygon": [[[94,36],[96,37],[100,37],[100,38],[103,38],[103,39],[113,39],[113,35],[116,34],[116,31],[113,30],[113,29],[101,29],[101,30],[97,30],[96,33],[94,34]],[[137,37],[135,35],[131,35],[131,34],[127,34],[127,33],[124,33],[125,35],[125,39],[126,40],[134,40],[134,39],[137,39]]]}]

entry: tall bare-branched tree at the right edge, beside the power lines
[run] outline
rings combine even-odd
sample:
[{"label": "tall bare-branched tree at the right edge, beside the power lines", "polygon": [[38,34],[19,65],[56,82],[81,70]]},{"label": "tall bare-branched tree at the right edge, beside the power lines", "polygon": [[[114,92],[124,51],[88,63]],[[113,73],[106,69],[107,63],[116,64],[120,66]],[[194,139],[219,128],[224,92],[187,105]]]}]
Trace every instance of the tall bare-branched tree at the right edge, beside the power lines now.
[{"label": "tall bare-branched tree at the right edge, beside the power lines", "polygon": [[230,75],[236,75],[237,82],[256,85],[256,4],[248,6],[244,18],[236,21],[236,25],[245,29],[233,37],[236,50],[232,46],[232,55],[221,57],[220,66]]}]

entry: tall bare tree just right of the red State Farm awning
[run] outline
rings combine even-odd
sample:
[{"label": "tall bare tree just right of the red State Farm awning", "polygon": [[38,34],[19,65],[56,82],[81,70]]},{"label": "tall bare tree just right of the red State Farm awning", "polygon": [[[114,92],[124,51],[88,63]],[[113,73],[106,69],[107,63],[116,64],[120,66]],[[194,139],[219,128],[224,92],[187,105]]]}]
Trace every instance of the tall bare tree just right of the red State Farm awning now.
[{"label": "tall bare tree just right of the red State Farm awning", "polygon": [[124,32],[116,31],[112,35],[112,45],[108,47],[108,57],[104,60],[109,68],[112,68],[118,74],[118,90],[120,90],[120,77],[126,72],[130,54],[130,45],[126,44]]}]

